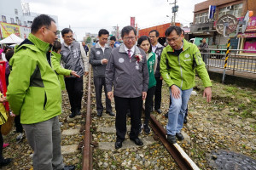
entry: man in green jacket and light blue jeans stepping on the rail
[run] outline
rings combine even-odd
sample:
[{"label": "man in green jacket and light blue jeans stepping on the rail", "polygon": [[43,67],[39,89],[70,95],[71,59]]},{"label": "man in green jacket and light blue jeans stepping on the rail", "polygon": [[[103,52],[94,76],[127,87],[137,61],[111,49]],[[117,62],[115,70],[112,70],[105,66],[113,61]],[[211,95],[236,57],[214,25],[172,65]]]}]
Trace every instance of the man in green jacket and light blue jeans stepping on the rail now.
[{"label": "man in green jacket and light blue jeans stepping on the rail", "polygon": [[167,140],[175,144],[176,137],[183,140],[181,129],[189,97],[195,86],[195,71],[205,87],[203,96],[207,102],[212,98],[212,83],[199,49],[183,38],[182,29],[171,26],[166,30],[166,42],[160,59],[160,73],[170,88],[172,105],[168,112],[166,126]]}]

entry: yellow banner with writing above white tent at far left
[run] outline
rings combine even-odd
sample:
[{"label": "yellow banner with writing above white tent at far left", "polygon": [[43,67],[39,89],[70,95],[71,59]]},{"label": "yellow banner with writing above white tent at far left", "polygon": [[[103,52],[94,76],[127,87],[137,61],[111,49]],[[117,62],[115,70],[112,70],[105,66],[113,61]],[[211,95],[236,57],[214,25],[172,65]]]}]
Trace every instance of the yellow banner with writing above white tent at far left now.
[{"label": "yellow banner with writing above white tent at far left", "polygon": [[16,36],[20,37],[20,26],[3,22],[0,22],[0,25],[3,38],[9,37],[11,34],[15,34]]}]

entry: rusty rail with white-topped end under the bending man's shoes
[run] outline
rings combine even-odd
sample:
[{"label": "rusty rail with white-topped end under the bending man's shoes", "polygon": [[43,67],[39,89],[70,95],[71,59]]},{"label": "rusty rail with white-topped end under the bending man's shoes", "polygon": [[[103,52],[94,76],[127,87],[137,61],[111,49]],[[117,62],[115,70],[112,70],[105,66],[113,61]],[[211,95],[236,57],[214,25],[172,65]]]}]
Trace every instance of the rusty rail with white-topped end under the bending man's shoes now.
[{"label": "rusty rail with white-topped end under the bending man's shoes", "polygon": [[195,165],[189,156],[183,151],[183,149],[176,143],[170,144],[166,139],[166,129],[161,126],[155,117],[150,115],[151,128],[154,130],[162,142],[165,145],[166,150],[171,154],[174,161],[177,162],[178,167],[182,170],[199,170],[200,168]]}]

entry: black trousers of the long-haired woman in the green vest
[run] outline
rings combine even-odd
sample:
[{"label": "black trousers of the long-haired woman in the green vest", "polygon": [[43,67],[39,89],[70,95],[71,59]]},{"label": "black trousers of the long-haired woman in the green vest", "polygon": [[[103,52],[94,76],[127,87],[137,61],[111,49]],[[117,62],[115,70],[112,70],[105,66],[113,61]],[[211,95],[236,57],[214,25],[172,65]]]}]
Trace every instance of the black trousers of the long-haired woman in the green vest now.
[{"label": "black trousers of the long-haired woman in the green vest", "polygon": [[150,118],[150,111],[153,105],[154,91],[155,91],[155,86],[149,88],[147,92],[147,98],[145,101],[145,118],[144,118],[144,124],[146,125],[148,125],[149,118]]}]

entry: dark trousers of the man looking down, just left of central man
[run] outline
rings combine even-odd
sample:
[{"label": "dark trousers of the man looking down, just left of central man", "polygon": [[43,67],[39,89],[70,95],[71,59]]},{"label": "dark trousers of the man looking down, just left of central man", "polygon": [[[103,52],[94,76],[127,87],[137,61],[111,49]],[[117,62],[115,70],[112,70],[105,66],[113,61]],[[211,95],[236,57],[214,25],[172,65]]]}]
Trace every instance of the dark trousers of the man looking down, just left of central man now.
[{"label": "dark trousers of the man looking down, just left of central man", "polygon": [[94,87],[95,87],[95,93],[96,93],[96,110],[97,112],[103,111],[103,105],[102,105],[102,88],[104,87],[105,92],[105,102],[106,102],[106,111],[111,112],[112,106],[111,106],[111,100],[108,99],[108,92],[106,88],[105,83],[105,77],[93,77]]}]

